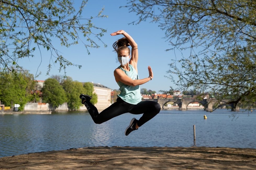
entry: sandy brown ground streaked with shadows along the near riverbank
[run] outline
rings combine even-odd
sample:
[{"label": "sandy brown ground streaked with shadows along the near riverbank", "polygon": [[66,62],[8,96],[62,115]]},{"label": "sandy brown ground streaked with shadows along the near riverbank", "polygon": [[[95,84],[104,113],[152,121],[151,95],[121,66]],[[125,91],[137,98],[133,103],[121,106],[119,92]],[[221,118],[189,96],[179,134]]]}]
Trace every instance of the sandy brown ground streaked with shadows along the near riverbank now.
[{"label": "sandy brown ground streaked with shadows along the near riverbank", "polygon": [[89,147],[2,157],[0,169],[256,169],[256,149]]}]

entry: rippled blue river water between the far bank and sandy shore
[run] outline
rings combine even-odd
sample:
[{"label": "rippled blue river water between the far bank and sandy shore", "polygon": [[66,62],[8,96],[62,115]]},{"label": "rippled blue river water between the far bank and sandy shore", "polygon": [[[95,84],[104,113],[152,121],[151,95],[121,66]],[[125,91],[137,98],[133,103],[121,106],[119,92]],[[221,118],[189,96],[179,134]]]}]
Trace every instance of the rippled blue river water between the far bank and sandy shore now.
[{"label": "rippled blue river water between the far bank and sandy shore", "polygon": [[125,136],[130,120],[140,116],[126,113],[94,124],[83,112],[0,115],[0,157],[92,146],[256,148],[255,111],[162,110]]}]

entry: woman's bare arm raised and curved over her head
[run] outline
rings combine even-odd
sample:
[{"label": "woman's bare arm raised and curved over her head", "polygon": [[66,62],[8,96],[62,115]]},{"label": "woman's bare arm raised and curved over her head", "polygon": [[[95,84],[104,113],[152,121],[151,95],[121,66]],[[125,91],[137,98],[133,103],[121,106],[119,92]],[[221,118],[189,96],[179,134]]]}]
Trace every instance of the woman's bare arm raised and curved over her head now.
[{"label": "woman's bare arm raised and curved over her head", "polygon": [[114,35],[119,35],[119,34],[123,34],[124,37],[129,41],[132,49],[131,49],[131,59],[129,64],[133,65],[133,67],[135,68],[135,70],[138,72],[137,70],[137,63],[138,63],[138,45],[137,43],[133,40],[133,38],[124,30],[119,30],[117,32],[114,32],[110,35],[114,36]]}]

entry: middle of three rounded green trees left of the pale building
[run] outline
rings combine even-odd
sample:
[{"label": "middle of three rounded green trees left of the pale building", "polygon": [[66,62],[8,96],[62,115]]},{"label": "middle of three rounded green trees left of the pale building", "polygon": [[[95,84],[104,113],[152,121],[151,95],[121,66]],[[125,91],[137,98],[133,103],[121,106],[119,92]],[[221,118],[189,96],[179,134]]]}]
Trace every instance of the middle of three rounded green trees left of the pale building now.
[{"label": "middle of three rounded green trees left of the pale building", "polygon": [[63,84],[63,89],[66,92],[69,110],[77,110],[82,105],[79,95],[85,93],[83,84],[77,81],[72,81],[71,77],[67,77]]}]

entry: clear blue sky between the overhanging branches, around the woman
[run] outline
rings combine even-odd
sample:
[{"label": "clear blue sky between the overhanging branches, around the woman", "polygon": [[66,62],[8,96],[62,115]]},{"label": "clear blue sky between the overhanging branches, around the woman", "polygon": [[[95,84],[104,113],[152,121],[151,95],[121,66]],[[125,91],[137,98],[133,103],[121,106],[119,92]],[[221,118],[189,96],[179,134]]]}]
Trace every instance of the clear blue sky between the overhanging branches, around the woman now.
[{"label": "clear blue sky between the overhanging branches, around the woman", "polygon": [[[77,2],[78,1],[76,1],[76,3]],[[123,29],[125,32],[129,33],[138,44],[139,77],[148,77],[148,65],[150,65],[153,70],[153,80],[142,84],[141,88],[146,88],[147,90],[151,89],[156,92],[159,90],[169,90],[170,86],[172,86],[172,82],[164,76],[168,76],[168,74],[166,74],[166,71],[169,70],[168,63],[171,62],[171,59],[175,59],[174,51],[165,51],[171,48],[171,46],[165,42],[166,39],[163,38],[164,31],[158,27],[157,23],[146,21],[139,25],[128,25],[128,23],[138,19],[138,16],[136,16],[135,13],[129,13],[127,8],[119,8],[120,6],[126,5],[126,2],[125,0],[89,0],[83,11],[84,17],[96,16],[98,11],[103,7],[105,8],[103,14],[108,15],[108,18],[92,21],[96,26],[107,29],[107,33],[104,34],[102,40],[108,47],[104,48],[103,44],[99,42],[101,47],[89,49],[91,54],[88,55],[82,43],[69,48],[61,47],[56,44],[61,55],[74,64],[82,65],[81,69],[75,66],[69,66],[66,69],[66,75],[72,77],[74,81],[100,83],[111,89],[119,89],[118,84],[115,82],[113,72],[120,64],[116,62],[117,55],[113,52],[112,44],[123,36],[110,36],[110,33]],[[52,41],[54,41],[54,38]],[[31,74],[35,75],[37,69],[41,71],[41,75],[37,80],[46,80],[51,75],[64,75],[64,71],[58,71],[58,64],[52,66],[49,73],[50,76],[46,75],[49,62],[53,64],[50,60],[50,53],[45,50],[42,51],[41,65],[40,53],[36,52],[34,54],[35,57],[19,60],[18,63],[25,69],[30,70]],[[179,59],[177,54],[176,57]]]}]

